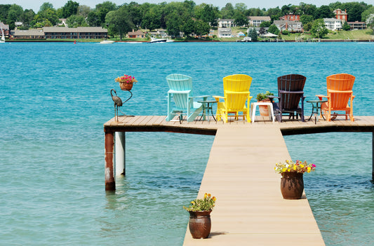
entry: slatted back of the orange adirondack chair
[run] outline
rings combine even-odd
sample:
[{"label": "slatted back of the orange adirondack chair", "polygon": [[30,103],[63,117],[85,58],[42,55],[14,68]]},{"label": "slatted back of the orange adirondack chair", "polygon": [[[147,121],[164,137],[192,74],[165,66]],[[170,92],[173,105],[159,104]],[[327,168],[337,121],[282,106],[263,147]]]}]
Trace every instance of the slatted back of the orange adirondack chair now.
[{"label": "slatted back of the orange adirondack chair", "polygon": [[[328,76],[326,78],[327,93],[331,93],[330,90],[352,91],[355,78],[351,74],[333,74]],[[345,109],[350,97],[351,94],[349,93],[331,93],[331,109]]]}]

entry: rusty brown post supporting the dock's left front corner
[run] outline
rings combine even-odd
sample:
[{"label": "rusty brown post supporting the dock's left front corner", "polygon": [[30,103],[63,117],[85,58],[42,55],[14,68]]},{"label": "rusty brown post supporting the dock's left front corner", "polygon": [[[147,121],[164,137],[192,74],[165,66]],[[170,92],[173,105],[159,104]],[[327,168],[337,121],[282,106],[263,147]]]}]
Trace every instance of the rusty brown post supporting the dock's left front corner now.
[{"label": "rusty brown post supporting the dock's left front corner", "polygon": [[105,132],[105,191],[115,191],[113,175],[114,132]]}]

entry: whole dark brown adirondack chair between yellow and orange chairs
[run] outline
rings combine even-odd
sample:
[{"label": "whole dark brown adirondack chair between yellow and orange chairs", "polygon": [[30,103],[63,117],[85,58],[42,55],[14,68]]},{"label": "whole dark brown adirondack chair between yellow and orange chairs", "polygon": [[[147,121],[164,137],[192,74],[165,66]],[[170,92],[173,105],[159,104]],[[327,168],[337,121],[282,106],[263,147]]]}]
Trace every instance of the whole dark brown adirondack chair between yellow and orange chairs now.
[{"label": "whole dark brown adirondack chair between yellow and orange chairs", "polygon": [[[278,77],[278,97],[269,96],[269,98],[277,98],[278,102],[273,102],[274,116],[276,120],[282,122],[283,114],[288,117],[304,119],[304,86],[307,78],[300,74],[288,74]],[[301,101],[301,107],[299,103]]]}]

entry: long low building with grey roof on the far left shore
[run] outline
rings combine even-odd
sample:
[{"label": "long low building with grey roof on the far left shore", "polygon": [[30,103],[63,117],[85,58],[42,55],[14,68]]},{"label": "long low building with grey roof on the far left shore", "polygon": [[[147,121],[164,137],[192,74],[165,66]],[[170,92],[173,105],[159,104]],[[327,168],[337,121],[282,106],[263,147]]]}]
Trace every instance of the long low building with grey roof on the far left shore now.
[{"label": "long low building with grey roof on the far left shore", "polygon": [[44,27],[46,39],[106,39],[108,30],[102,27]]}]

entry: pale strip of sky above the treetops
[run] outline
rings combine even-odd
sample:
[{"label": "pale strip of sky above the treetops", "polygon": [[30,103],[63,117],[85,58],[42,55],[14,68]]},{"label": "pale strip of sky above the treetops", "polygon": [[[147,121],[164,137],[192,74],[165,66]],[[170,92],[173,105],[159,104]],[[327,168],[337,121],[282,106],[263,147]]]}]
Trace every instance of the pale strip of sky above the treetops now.
[{"label": "pale strip of sky above the treetops", "polygon": [[[30,9],[36,13],[39,11],[40,6],[45,2],[53,4],[53,8],[58,9],[62,6],[65,6],[68,0],[1,0],[0,4],[17,4],[22,6],[22,8]],[[102,4],[104,1],[107,0],[72,0],[79,3],[79,5],[86,5],[91,8],[95,8],[96,4]],[[126,0],[109,0],[114,4],[121,5],[124,3],[130,3],[131,1]],[[171,1],[184,1],[184,0],[133,0],[138,4],[149,3],[149,4],[159,4],[162,2],[171,2]],[[254,1],[254,0],[193,0],[197,5],[199,4],[212,4],[213,6],[217,6],[219,8],[224,7],[227,3],[231,3],[233,6],[238,3],[246,4],[247,8],[276,8],[279,6],[281,8],[284,5],[292,4],[292,5],[299,5],[300,2],[305,4],[314,4],[317,7],[322,5],[328,5],[330,3],[335,3],[340,1],[341,3],[345,2],[361,2],[363,1],[366,4],[374,5],[374,0],[262,0],[262,1]]]}]

